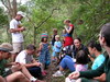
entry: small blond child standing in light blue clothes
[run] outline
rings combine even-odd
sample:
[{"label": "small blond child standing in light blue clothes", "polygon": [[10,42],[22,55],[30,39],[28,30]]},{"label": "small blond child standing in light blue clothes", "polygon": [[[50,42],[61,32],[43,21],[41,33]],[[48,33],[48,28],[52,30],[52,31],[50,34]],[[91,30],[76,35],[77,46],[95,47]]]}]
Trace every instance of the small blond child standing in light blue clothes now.
[{"label": "small blond child standing in light blue clothes", "polygon": [[61,49],[62,49],[62,43],[59,42],[59,35],[56,35],[55,36],[55,44],[54,44],[54,48],[53,48],[53,50],[54,50],[54,54],[53,54],[53,60],[55,60],[55,61],[59,61],[59,52],[61,52]]}]

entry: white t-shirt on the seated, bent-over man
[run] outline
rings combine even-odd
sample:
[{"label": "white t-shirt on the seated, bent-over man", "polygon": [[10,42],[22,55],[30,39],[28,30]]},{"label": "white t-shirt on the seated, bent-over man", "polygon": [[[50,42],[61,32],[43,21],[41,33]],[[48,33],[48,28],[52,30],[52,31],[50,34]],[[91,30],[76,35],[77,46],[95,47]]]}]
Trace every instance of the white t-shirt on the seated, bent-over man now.
[{"label": "white t-shirt on the seated, bent-over man", "polygon": [[33,60],[32,55],[28,55],[26,50],[22,50],[15,58],[15,62],[20,63],[31,63]]}]

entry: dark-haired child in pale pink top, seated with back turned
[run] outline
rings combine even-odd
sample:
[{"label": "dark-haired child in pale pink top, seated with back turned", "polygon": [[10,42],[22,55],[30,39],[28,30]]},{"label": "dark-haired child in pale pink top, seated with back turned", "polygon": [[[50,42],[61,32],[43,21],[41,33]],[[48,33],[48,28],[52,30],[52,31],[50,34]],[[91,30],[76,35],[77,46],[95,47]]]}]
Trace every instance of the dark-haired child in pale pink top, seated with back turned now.
[{"label": "dark-haired child in pale pink top, seated with back turned", "polygon": [[76,56],[76,71],[86,71],[88,69],[88,55],[84,50],[79,50]]}]

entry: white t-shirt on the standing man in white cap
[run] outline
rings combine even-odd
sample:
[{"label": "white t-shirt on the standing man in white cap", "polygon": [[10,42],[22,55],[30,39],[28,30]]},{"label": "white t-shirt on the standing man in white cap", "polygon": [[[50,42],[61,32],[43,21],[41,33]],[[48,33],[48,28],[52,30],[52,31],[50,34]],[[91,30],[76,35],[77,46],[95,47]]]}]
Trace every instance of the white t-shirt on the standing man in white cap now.
[{"label": "white t-shirt on the standing man in white cap", "polygon": [[[16,21],[13,19],[10,22],[10,28],[16,28],[21,24],[20,21]],[[12,43],[22,43],[23,42],[23,35],[21,32],[12,33]]]}]

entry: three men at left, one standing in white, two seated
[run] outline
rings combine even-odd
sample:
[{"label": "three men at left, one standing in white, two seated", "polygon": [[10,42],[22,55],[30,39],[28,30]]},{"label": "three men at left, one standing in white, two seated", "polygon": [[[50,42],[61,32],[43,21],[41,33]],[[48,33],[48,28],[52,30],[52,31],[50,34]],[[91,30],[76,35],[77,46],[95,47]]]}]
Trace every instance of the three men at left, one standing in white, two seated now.
[{"label": "three men at left, one standing in white, two seated", "polygon": [[42,81],[43,65],[33,58],[36,47],[28,45],[23,48],[22,32],[25,27],[20,22],[23,16],[23,12],[19,11],[10,22],[12,45],[0,45],[0,82],[45,82]]}]

